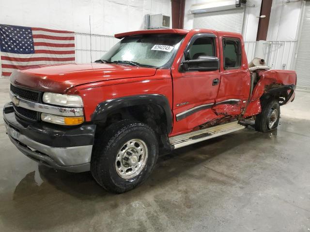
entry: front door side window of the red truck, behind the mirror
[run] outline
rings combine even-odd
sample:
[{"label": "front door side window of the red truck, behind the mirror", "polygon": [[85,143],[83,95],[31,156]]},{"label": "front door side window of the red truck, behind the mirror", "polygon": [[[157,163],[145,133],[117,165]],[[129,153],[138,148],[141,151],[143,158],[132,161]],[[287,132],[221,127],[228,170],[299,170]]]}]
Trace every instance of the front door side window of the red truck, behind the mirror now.
[{"label": "front door side window of the red truck, behind the mirror", "polygon": [[189,48],[186,60],[198,59],[200,56],[215,57],[215,39],[212,37],[200,37]]}]

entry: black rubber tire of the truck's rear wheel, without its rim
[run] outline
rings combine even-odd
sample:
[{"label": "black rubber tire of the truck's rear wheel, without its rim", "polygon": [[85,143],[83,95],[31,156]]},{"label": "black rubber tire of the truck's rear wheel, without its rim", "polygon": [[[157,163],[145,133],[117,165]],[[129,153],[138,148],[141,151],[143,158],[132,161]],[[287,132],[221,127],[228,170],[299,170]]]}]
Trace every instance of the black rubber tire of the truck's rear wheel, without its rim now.
[{"label": "black rubber tire of the truck's rear wheel, without its rim", "polygon": [[[277,119],[274,124],[269,127],[269,120],[272,119],[272,113],[277,110]],[[256,116],[255,130],[266,132],[275,130],[278,127],[280,119],[280,104],[277,100],[269,100],[262,102],[262,112]]]}]

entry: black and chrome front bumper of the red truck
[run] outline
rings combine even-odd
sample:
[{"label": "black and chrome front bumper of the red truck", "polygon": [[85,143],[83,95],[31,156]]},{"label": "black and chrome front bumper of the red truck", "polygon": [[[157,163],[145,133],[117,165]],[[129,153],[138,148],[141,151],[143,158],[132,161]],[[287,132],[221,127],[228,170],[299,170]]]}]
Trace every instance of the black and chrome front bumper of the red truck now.
[{"label": "black and chrome front bumper of the red truck", "polygon": [[10,103],[4,106],[3,118],[12,143],[32,160],[69,172],[90,170],[95,125],[68,128],[24,122],[16,118]]}]

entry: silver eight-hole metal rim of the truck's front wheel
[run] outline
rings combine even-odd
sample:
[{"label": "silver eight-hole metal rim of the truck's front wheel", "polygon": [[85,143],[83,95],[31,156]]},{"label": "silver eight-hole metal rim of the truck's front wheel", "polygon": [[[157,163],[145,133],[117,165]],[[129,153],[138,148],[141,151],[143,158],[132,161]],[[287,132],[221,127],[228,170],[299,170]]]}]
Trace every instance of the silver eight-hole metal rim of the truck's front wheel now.
[{"label": "silver eight-hole metal rim of the truck's front wheel", "polygon": [[117,153],[115,160],[117,174],[124,179],[137,176],[144,168],[147,157],[148,150],[144,141],[129,140]]}]

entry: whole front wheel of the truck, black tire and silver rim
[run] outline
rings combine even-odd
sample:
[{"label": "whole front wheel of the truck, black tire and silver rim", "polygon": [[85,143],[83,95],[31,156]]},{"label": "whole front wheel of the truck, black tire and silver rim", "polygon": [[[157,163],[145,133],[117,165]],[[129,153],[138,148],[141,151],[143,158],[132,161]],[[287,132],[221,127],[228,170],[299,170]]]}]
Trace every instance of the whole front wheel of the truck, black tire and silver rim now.
[{"label": "whole front wheel of the truck, black tire and silver rim", "polygon": [[144,123],[123,120],[110,125],[96,140],[91,172],[109,192],[123,193],[149,177],[157,157],[155,132]]}]

